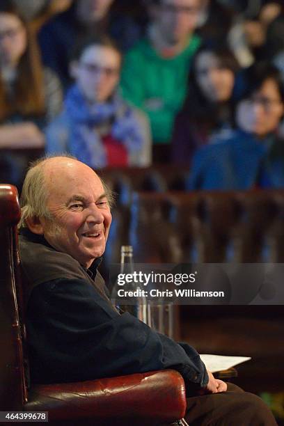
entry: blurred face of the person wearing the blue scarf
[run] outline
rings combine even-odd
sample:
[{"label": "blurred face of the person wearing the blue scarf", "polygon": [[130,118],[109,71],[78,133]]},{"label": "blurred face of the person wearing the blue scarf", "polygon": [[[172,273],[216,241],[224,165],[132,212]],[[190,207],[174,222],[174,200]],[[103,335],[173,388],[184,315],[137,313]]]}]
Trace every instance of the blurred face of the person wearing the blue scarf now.
[{"label": "blurred face of the person wearing the blue scarf", "polygon": [[106,102],[118,84],[120,54],[112,47],[91,45],[73,65],[72,74],[90,103]]}]

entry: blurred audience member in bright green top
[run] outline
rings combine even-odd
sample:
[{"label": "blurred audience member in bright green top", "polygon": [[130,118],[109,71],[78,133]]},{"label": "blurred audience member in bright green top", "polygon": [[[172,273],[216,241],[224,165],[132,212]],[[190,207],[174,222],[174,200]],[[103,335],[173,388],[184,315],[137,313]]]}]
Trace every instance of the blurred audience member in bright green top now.
[{"label": "blurred audience member in bright green top", "polygon": [[169,144],[173,120],[187,92],[200,0],[150,0],[147,38],[125,55],[123,96],[150,118],[155,144]]}]

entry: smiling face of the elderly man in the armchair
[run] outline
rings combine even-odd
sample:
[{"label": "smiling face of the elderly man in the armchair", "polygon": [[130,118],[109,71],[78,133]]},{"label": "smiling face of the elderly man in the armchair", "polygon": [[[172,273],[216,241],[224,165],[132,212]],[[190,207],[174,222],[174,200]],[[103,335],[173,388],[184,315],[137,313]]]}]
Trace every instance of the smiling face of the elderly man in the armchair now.
[{"label": "smiling face of the elderly man in the armchair", "polygon": [[45,176],[47,208],[52,214],[51,221],[41,220],[45,239],[58,251],[90,267],[104,253],[111,226],[102,182],[88,166],[72,159],[64,165],[47,167]]}]

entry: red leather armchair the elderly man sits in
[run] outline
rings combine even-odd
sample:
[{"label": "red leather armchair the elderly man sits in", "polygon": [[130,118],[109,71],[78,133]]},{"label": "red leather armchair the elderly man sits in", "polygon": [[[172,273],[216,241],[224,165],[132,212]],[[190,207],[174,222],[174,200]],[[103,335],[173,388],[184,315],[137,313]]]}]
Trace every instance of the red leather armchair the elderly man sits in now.
[{"label": "red leather armchair the elderly man sits in", "polygon": [[48,411],[52,425],[161,425],[184,416],[184,381],[174,370],[72,384],[26,386],[17,189],[0,184],[0,411]]}]

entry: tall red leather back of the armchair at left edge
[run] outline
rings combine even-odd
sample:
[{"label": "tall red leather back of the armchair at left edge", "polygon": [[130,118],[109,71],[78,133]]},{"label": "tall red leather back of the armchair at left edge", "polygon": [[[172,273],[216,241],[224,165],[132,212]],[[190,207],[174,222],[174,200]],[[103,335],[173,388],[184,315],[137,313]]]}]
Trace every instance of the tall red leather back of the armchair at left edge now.
[{"label": "tall red leather back of the armchair at left edge", "polygon": [[0,184],[0,411],[22,410],[26,400],[17,281],[19,217],[17,188]]}]

